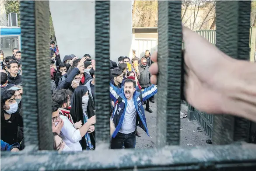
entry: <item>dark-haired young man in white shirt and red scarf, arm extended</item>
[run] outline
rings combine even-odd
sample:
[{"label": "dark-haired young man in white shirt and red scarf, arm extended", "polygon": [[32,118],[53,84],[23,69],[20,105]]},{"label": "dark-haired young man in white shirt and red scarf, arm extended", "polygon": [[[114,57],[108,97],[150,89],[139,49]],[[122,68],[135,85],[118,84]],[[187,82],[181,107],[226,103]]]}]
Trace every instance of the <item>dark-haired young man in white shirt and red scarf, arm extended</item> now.
[{"label": "dark-haired young man in white shirt and red scarf, arm extended", "polygon": [[[82,147],[79,141],[87,133],[91,125],[95,124],[96,116],[88,119],[83,126],[81,121],[74,123],[68,108],[70,105],[70,98],[65,90],[58,90],[54,92],[52,97],[53,102],[57,103],[59,108],[58,112],[60,112],[60,114],[58,117],[60,117],[63,122],[63,127],[61,128],[61,132],[59,134],[60,137],[71,150],[81,151]],[[56,114],[54,116],[57,118]]]}]

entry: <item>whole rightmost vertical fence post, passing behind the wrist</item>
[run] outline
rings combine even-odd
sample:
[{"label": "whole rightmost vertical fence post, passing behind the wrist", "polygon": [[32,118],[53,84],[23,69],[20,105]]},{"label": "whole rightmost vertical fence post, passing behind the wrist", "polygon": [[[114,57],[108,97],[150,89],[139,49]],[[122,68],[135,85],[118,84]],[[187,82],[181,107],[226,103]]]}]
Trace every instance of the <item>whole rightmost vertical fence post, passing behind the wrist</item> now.
[{"label": "whole rightmost vertical fence post, passing behind the wrist", "polygon": [[[216,46],[235,59],[249,59],[251,1],[216,2]],[[248,122],[231,115],[214,115],[214,144],[247,141]]]}]

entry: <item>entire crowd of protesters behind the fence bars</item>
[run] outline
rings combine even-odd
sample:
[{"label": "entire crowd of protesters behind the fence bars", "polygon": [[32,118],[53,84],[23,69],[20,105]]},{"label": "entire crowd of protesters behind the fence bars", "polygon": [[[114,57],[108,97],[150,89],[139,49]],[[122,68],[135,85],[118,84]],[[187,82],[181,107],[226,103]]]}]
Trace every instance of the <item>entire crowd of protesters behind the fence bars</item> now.
[{"label": "entire crowd of protesters behind the fence bars", "polygon": [[[52,129],[55,150],[94,150],[95,144],[95,60],[89,54],[60,58],[58,46],[50,42],[50,84]],[[1,52],[1,150],[24,149],[22,119],[22,58],[19,49],[13,56]],[[145,110],[152,113],[157,87],[150,82],[153,61],[147,50],[140,59],[120,56],[118,64],[109,61],[111,99],[111,148],[135,148],[137,126],[149,136]]]}]

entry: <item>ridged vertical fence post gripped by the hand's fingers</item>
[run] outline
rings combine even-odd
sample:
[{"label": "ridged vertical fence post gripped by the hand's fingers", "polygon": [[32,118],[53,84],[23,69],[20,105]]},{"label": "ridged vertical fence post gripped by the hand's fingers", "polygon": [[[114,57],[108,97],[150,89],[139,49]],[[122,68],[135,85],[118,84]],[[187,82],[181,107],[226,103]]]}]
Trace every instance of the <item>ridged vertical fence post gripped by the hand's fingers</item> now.
[{"label": "ridged vertical fence post gripped by the hand's fingers", "polygon": [[[182,70],[181,1],[158,1],[157,145],[179,145]],[[166,57],[168,56],[168,57]]]}]

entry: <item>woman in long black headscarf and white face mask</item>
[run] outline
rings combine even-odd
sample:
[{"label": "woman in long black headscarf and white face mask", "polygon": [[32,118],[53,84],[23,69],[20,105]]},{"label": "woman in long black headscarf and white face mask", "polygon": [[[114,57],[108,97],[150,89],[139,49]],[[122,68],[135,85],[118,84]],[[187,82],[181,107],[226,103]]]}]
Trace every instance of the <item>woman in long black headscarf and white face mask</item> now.
[{"label": "woman in long black headscarf and white face mask", "polygon": [[[78,86],[71,99],[70,114],[74,122],[82,121],[83,125],[88,120],[87,106],[89,101],[88,88],[84,85]],[[95,127],[90,126],[88,132],[80,141],[83,150],[95,149]]]}]

